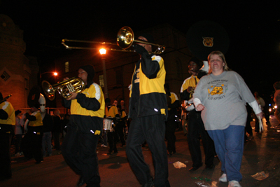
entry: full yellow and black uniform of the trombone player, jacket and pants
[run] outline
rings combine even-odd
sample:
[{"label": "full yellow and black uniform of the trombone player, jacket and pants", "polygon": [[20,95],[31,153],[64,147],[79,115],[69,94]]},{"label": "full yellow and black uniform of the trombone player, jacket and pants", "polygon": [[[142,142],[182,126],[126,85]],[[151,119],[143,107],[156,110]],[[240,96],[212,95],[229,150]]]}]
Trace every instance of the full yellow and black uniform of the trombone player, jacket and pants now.
[{"label": "full yellow and black uniform of the trombone player, jacket and pants", "polygon": [[139,182],[143,185],[150,183],[153,179],[141,146],[146,141],[153,156],[155,186],[170,186],[165,145],[165,64],[162,57],[150,55],[145,49],[143,53],[137,53],[141,55],[141,59],[137,62],[132,76],[129,112],[132,122],[127,137],[127,158]]}]

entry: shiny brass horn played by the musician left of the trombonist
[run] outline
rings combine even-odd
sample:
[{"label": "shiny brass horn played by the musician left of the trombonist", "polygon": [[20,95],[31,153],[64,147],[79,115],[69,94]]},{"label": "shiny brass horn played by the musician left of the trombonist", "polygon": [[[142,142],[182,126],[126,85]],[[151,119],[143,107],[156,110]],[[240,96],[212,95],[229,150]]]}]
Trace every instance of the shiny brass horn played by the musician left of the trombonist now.
[{"label": "shiny brass horn played by the musician left of the trombonist", "polygon": [[71,97],[69,92],[83,92],[83,90],[85,90],[85,83],[81,78],[73,77],[54,85],[50,85],[48,81],[43,81],[42,88],[48,99],[52,101],[55,99],[56,90],[62,97],[67,99]]}]

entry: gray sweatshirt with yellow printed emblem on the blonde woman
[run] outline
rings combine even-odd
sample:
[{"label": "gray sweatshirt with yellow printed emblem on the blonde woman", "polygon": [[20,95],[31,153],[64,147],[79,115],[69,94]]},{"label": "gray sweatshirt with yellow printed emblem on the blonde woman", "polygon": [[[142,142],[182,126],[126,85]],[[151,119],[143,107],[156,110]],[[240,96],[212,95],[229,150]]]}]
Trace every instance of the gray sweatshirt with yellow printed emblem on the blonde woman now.
[{"label": "gray sweatshirt with yellow printed emblem on the blonde woman", "polygon": [[230,125],[245,126],[245,104],[255,102],[243,78],[235,71],[202,77],[193,97],[200,99],[205,106],[201,115],[206,130],[224,130]]}]

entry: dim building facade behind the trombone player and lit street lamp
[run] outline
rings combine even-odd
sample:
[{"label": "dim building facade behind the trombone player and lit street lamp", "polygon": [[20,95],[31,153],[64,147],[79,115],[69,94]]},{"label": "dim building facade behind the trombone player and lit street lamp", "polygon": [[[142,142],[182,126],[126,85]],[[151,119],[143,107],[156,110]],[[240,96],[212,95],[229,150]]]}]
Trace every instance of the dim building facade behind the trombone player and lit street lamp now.
[{"label": "dim building facade behind the trombone player and lit street lamp", "polygon": [[[181,85],[188,74],[188,60],[192,57],[186,44],[186,34],[179,32],[171,25],[158,25],[139,33],[147,32],[154,36],[155,43],[166,46],[165,53],[160,56],[165,60],[167,71],[166,83],[169,83],[171,92],[180,95]],[[111,102],[117,99],[125,100],[128,109],[130,90],[128,86],[132,80],[134,65],[139,60],[137,53],[123,53],[107,50],[105,55],[106,76],[108,92]],[[63,76],[77,76],[80,65],[92,64],[96,71],[94,82],[99,84],[99,76],[103,75],[102,57],[98,50],[77,50],[73,55],[68,55],[55,60],[55,66],[63,71],[64,63],[69,62],[69,73]],[[70,70],[71,69],[71,70]],[[58,70],[59,71],[59,70]],[[57,107],[60,107],[60,100],[57,100]]]}]

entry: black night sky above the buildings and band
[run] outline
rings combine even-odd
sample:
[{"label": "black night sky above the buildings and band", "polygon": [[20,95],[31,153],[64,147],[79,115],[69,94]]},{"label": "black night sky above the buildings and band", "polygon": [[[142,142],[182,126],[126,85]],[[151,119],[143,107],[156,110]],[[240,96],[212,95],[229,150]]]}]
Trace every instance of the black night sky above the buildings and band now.
[{"label": "black night sky above the buildings and band", "polygon": [[228,32],[225,59],[252,92],[269,96],[280,81],[280,1],[0,2],[0,13],[24,31],[25,55],[38,57],[41,66],[67,53],[61,39],[116,41],[123,26],[137,32],[162,23],[187,33],[196,22],[211,20]]}]

